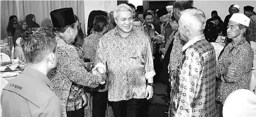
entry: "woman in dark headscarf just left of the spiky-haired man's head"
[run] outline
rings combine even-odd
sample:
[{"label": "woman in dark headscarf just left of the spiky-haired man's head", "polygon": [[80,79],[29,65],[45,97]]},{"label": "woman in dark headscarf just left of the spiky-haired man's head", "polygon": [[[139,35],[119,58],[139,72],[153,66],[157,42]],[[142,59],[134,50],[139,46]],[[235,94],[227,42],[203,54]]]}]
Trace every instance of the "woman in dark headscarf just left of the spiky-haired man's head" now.
[{"label": "woman in dark headscarf just left of the spiky-haired man's head", "polygon": [[16,47],[16,40],[18,37],[22,37],[23,33],[28,29],[28,25],[25,20],[20,20],[17,24],[17,29],[13,37],[13,46]]}]

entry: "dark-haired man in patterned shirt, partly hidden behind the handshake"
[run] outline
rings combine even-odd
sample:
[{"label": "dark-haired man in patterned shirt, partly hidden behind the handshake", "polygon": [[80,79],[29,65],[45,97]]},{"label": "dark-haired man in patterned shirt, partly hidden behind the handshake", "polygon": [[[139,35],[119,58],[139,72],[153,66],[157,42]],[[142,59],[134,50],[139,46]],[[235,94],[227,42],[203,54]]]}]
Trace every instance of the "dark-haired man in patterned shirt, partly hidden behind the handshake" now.
[{"label": "dark-haired man in patterned shirt, partly hidden behind the handshake", "polygon": [[[84,58],[89,58],[91,62],[95,62],[96,51],[99,45],[99,39],[104,35],[108,30],[108,21],[105,16],[95,16],[94,17],[94,32],[89,35],[89,37],[84,39],[83,44],[83,51],[84,51]],[[94,89],[92,92],[92,116],[94,117],[102,117],[105,116],[106,106],[108,101],[108,88],[106,85],[100,85]]]}]

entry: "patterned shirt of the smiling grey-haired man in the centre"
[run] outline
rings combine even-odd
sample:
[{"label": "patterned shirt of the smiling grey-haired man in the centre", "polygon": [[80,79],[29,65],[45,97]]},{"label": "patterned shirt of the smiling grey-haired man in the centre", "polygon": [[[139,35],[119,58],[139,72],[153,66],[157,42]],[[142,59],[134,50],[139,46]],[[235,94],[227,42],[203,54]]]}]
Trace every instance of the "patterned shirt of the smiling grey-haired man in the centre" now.
[{"label": "patterned shirt of the smiling grey-haired man in the centre", "polygon": [[121,37],[117,27],[107,32],[99,41],[96,63],[103,63],[108,70],[109,101],[147,97],[146,80],[155,70],[145,32],[131,30],[128,37]]}]

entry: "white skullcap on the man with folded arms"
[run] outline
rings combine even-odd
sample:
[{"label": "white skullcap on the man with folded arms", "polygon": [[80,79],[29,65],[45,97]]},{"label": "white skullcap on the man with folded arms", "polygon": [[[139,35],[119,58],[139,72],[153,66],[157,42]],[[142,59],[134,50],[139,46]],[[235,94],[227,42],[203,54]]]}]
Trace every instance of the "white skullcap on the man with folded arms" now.
[{"label": "white skullcap on the man with folded arms", "polygon": [[229,20],[233,20],[236,23],[240,23],[241,25],[249,26],[250,18],[245,16],[243,13],[233,13]]}]

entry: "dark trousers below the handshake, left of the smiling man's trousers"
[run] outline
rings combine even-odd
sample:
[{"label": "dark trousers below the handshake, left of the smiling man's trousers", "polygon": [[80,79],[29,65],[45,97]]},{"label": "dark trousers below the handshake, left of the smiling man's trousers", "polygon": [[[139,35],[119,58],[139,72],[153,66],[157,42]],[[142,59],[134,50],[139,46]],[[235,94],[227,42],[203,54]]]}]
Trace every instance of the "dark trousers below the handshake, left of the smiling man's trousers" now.
[{"label": "dark trousers below the handshake, left of the smiling man's trousers", "polygon": [[107,102],[108,102],[108,91],[93,92],[92,117],[105,117]]}]

